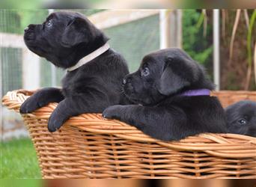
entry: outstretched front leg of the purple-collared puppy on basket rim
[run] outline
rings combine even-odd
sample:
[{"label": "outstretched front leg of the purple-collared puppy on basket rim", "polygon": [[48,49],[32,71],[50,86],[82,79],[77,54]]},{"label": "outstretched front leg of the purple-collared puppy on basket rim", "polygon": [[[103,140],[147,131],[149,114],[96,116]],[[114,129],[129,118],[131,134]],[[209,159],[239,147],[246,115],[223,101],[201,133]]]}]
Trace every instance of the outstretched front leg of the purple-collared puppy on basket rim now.
[{"label": "outstretched front leg of the purple-collared puppy on basket rim", "polygon": [[103,111],[103,117],[124,121],[140,129],[146,135],[159,140],[170,141],[182,138],[178,132],[177,120],[179,120],[179,124],[183,125],[185,119],[177,119],[180,116],[180,114],[177,114],[179,112],[174,111],[173,115],[163,108],[141,105],[113,105]]}]

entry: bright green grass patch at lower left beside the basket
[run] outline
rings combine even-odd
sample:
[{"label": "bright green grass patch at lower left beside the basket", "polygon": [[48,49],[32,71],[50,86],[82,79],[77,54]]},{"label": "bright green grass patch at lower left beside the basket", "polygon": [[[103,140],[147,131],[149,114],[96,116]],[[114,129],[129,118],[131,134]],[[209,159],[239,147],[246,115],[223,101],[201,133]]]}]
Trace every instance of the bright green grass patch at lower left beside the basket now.
[{"label": "bright green grass patch at lower left beside the basket", "polygon": [[1,142],[1,179],[41,178],[36,152],[30,139]]}]

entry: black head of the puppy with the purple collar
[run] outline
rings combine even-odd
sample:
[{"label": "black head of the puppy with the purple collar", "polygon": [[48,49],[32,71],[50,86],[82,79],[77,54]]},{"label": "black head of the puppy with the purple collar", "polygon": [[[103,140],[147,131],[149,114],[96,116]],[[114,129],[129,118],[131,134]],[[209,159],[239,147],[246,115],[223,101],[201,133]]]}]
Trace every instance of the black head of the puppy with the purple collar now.
[{"label": "black head of the puppy with the purple collar", "polygon": [[124,93],[133,102],[154,105],[167,96],[213,84],[182,49],[162,49],[146,55],[138,71],[124,78]]}]

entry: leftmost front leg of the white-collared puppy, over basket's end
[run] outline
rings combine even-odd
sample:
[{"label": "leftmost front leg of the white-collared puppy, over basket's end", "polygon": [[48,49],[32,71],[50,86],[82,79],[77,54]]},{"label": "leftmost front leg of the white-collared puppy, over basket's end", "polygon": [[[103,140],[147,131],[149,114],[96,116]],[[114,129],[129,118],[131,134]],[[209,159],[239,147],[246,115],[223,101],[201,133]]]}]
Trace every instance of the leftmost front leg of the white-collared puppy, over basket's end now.
[{"label": "leftmost front leg of the white-collared puppy, over basket's end", "polygon": [[61,89],[59,88],[43,88],[32,96],[28,97],[19,108],[21,114],[27,114],[41,108],[49,102],[61,102],[64,99]]}]

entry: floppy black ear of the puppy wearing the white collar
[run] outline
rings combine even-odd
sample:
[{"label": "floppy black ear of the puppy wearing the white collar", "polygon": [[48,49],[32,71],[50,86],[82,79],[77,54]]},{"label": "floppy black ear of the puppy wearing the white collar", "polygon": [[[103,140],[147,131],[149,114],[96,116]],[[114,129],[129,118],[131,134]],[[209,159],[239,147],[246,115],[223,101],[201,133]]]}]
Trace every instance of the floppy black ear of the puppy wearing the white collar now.
[{"label": "floppy black ear of the puppy wearing the white collar", "polygon": [[66,26],[61,37],[61,44],[65,47],[72,47],[82,42],[86,43],[90,34],[91,32],[85,19],[76,17]]}]

